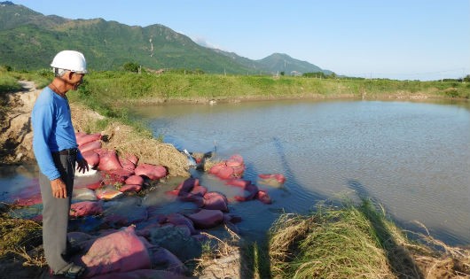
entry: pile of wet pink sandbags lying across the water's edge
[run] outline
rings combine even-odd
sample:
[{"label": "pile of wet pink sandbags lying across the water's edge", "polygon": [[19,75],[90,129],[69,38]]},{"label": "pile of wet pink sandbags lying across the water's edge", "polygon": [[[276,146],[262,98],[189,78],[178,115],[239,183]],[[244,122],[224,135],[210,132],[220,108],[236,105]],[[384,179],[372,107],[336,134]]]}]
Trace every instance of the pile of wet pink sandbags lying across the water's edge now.
[{"label": "pile of wet pink sandbags lying across the water's edge", "polygon": [[[141,205],[141,198],[117,199],[126,192],[139,192],[145,181],[159,180],[168,172],[163,166],[138,162],[135,155],[118,156],[102,149],[100,134],[77,133],[82,155],[91,171],[100,175],[74,189],[71,205],[72,230],[68,237],[82,247],[74,261],[87,267],[87,278],[184,278],[184,261],[200,256],[208,237],[200,232],[225,224],[235,233],[241,217],[229,212],[229,203],[260,200],[272,201],[268,193],[242,178],[245,164],[240,155],[212,167],[208,173],[228,187],[238,187],[242,195],[228,200],[223,194],[208,191],[196,178],[188,178],[168,195],[192,202],[199,209],[192,213],[159,213],[159,208]],[[85,174],[88,175],[88,174]],[[282,174],[259,174],[260,182],[282,184]],[[33,185],[34,184],[34,185]],[[272,185],[271,185],[272,186]],[[42,203],[37,181],[15,199],[19,205]],[[41,215],[32,219],[41,221]]]}]

